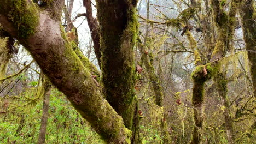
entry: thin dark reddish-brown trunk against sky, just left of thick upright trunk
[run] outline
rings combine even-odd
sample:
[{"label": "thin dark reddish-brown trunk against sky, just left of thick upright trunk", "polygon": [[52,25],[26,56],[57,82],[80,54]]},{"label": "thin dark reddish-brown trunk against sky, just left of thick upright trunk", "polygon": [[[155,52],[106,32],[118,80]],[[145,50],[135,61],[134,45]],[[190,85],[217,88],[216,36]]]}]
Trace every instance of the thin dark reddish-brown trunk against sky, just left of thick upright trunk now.
[{"label": "thin dark reddish-brown trunk against sky, just left of thick upright trunk", "polygon": [[94,52],[98,60],[98,65],[101,68],[101,50],[100,50],[100,34],[98,33],[97,19],[92,16],[92,8],[90,0],[83,0],[84,7],[86,8],[86,20],[91,32],[91,38],[94,42]]}]

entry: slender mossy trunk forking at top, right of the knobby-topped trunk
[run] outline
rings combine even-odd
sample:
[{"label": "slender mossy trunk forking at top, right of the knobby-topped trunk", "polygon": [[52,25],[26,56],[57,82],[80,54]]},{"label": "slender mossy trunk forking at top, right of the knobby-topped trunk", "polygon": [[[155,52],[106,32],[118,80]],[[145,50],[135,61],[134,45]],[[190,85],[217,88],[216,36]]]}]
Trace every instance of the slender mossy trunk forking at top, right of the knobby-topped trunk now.
[{"label": "slender mossy trunk forking at top, right of the knobby-topped trunk", "polygon": [[[213,0],[212,5],[214,8],[214,22],[217,26],[218,40],[217,44],[214,47],[212,53],[211,61],[219,61],[222,57],[225,56],[227,51],[231,50],[231,43],[234,37],[235,23],[236,23],[236,14],[240,1],[234,0],[231,2],[229,14],[227,14],[223,8],[220,8],[220,1]],[[222,100],[222,105],[225,107],[224,118],[226,126],[226,135],[230,144],[235,143],[235,131],[234,123],[229,109],[229,99],[227,95],[227,81],[224,71],[220,71],[222,65],[216,65],[218,73],[214,77],[215,84],[218,89],[219,96]]]}]

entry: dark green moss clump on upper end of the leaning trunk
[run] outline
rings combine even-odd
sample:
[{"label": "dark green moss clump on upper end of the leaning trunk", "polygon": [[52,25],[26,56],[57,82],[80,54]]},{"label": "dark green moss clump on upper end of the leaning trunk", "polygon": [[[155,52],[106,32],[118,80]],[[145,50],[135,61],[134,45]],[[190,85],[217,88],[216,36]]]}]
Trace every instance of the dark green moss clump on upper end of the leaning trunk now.
[{"label": "dark green moss clump on upper end of the leaning trunk", "polygon": [[38,26],[38,10],[26,0],[10,0],[9,20],[18,28],[18,37],[25,39],[34,34]]}]

